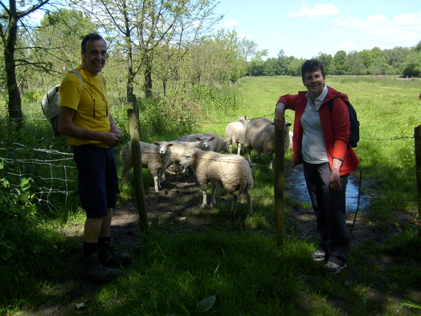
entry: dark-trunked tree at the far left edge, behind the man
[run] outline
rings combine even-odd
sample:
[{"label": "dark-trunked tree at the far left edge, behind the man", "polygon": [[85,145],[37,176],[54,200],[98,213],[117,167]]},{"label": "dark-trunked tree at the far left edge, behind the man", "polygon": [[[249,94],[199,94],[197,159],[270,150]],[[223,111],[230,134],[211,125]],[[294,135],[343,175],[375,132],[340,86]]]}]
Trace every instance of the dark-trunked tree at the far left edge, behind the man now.
[{"label": "dark-trunked tree at the far left edge, behind the man", "polygon": [[[27,15],[42,8],[49,0],[38,0],[35,4],[26,4],[25,1],[9,0],[9,6],[3,1],[0,5],[4,8],[0,22],[0,38],[4,45],[4,72],[6,74],[6,86],[8,92],[8,114],[15,129],[22,127],[22,99],[18,81],[16,79],[16,67],[21,65],[20,60],[15,59],[16,45],[19,37],[18,29],[25,27],[23,20]],[[29,27],[29,26],[28,26]]]}]

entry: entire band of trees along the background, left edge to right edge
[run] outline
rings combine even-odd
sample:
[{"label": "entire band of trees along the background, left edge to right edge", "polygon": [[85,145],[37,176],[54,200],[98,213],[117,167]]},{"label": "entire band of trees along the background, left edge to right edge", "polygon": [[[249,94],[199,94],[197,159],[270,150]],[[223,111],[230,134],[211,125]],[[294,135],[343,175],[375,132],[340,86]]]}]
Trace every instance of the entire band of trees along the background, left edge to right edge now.
[{"label": "entire band of trees along the background, left edge to right edge", "polygon": [[[243,76],[300,75],[304,60],[286,56],[267,58],[254,41],[213,27],[215,0],[130,1],[81,0],[45,8],[48,1],[28,9],[11,0],[0,20],[0,92],[9,117],[23,119],[22,100],[41,98],[80,65],[80,43],[89,32],[99,32],[108,44],[104,74],[112,97],[131,100],[166,97],[168,93],[223,88]],[[29,13],[44,11],[39,24]],[[27,10],[27,11],[25,11]],[[421,41],[413,47],[361,52],[320,53],[326,74],[393,74],[421,76]],[[210,91],[211,90],[200,90]]]}]

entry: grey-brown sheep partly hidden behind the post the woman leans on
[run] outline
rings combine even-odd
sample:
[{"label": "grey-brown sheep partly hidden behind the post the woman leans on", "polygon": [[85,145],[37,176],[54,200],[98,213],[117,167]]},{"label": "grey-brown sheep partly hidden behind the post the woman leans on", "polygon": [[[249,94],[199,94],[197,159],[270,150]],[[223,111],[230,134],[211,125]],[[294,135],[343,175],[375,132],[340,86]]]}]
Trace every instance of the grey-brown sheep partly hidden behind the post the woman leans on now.
[{"label": "grey-brown sheep partly hidden behind the post the woman leans on", "polygon": [[[285,151],[290,147],[289,137],[290,123],[285,122],[285,129],[283,130]],[[251,119],[247,124],[245,133],[245,143],[248,150],[248,161],[251,163],[251,150],[257,150],[260,157],[262,153],[270,157],[269,168],[272,169],[273,154],[275,152],[275,126],[273,121],[259,117]]]}]

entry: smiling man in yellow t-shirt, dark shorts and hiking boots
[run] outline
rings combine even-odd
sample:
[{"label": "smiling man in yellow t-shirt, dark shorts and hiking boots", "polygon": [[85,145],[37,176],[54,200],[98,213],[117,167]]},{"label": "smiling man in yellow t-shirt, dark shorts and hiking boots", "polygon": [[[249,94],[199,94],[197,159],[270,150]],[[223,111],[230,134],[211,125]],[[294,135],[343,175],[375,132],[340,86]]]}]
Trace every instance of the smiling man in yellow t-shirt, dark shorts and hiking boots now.
[{"label": "smiling man in yellow t-shirt, dark shorts and hiking boots", "polygon": [[[78,169],[77,193],[86,211],[81,275],[104,282],[118,275],[101,263],[131,262],[112,246],[110,228],[116,206],[118,176],[114,147],[123,135],[109,113],[107,86],[100,71],[107,59],[107,44],[99,34],[88,34],[81,43],[83,79],[69,72],[60,84],[60,133],[74,152]],[[97,252],[98,244],[98,252]]]}]

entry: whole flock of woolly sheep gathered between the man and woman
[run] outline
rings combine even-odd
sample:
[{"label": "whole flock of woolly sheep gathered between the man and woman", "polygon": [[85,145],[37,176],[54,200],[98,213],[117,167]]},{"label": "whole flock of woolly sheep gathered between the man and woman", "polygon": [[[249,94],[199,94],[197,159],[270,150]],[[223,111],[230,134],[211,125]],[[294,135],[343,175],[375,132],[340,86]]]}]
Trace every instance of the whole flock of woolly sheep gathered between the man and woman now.
[{"label": "whole flock of woolly sheep gathered between the man and woman", "polygon": [[[286,123],[284,129],[284,150],[292,147],[292,133]],[[161,182],[168,173],[188,173],[194,170],[197,182],[201,185],[202,207],[208,205],[206,191],[208,183],[212,187],[210,206],[215,207],[215,192],[217,187],[223,187],[232,196],[232,213],[236,212],[238,197],[246,195],[248,213],[253,213],[251,189],[253,176],[250,170],[251,150],[256,150],[260,156],[266,154],[271,158],[275,150],[275,127],[273,121],[265,118],[248,119],[239,117],[225,129],[226,141],[215,133],[196,133],[182,136],[178,140],[156,143],[140,142],[142,168],[147,168],[154,178],[154,190],[159,192]],[[232,154],[232,145],[237,145],[237,154]],[[241,157],[241,148],[246,146],[248,161]],[[220,152],[229,152],[222,154]],[[121,149],[123,164],[123,180],[126,183],[128,174],[133,167],[131,143]],[[236,194],[238,192],[238,195]]]}]

